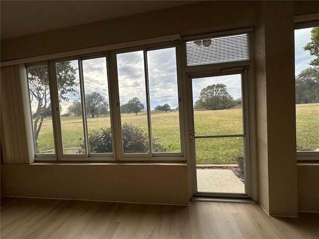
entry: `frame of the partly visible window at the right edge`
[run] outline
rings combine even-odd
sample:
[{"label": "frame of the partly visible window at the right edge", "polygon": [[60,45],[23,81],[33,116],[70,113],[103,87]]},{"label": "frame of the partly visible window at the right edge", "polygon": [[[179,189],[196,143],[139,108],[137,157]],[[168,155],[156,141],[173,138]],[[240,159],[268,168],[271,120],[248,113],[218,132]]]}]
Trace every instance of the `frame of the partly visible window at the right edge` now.
[{"label": "frame of the partly visible window at the right edge", "polygon": [[[295,20],[294,33],[295,33],[295,30],[298,30],[298,29],[310,28],[310,27],[316,27],[316,26],[319,27],[319,19],[302,21],[302,22],[298,22]],[[294,40],[295,40],[295,34],[294,34]],[[294,55],[294,61],[295,61],[295,58],[296,58],[296,55]],[[295,81],[296,81],[296,75],[295,75]],[[295,109],[296,109],[296,104],[295,104]],[[296,117],[295,117],[295,120],[296,120]],[[297,122],[296,122],[296,126],[297,126]],[[297,141],[297,134],[296,134],[296,141]],[[319,151],[297,151],[296,149],[296,157],[297,157],[297,162],[319,162]]]}]

